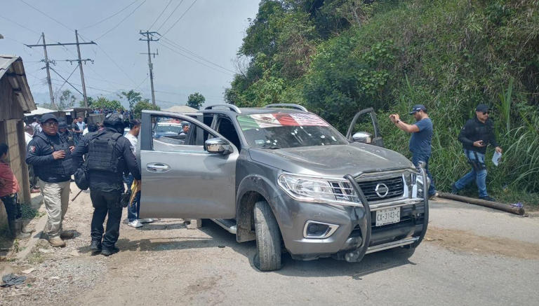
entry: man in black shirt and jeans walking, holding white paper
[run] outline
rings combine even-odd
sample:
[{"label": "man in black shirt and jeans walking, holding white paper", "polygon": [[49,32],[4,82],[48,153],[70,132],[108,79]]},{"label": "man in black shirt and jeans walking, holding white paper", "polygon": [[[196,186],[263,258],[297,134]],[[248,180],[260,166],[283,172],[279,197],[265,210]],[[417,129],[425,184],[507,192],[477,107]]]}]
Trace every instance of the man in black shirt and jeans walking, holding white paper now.
[{"label": "man in black shirt and jeans walking, holding white paper", "polygon": [[465,188],[472,181],[476,181],[479,189],[479,198],[487,201],[495,201],[486,193],[486,165],[485,153],[486,146],[491,144],[495,151],[502,153],[502,148],[498,146],[494,134],[493,122],[489,115],[488,106],[479,104],[475,109],[474,118],[467,120],[463,129],[458,134],[458,141],[463,143],[464,154],[472,165],[472,171],[468,172],[461,179],[453,183],[452,193],[458,193],[458,190]]}]

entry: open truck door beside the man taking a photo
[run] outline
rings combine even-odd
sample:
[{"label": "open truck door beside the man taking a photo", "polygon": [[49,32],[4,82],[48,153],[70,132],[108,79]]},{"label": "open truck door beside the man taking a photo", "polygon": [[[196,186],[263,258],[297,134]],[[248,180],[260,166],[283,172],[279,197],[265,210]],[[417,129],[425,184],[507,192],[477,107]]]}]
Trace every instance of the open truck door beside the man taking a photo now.
[{"label": "open truck door beside the man taking a photo", "polygon": [[364,142],[374,146],[384,146],[380,127],[378,127],[378,119],[372,107],[362,109],[356,113],[352,119],[350,127],[346,132],[346,138],[350,141]]}]

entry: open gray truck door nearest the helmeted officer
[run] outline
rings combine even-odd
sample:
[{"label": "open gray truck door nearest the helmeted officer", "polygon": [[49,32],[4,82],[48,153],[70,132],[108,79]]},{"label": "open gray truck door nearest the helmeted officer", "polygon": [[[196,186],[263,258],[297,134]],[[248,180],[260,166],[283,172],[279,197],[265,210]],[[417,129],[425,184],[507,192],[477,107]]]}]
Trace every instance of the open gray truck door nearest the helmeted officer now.
[{"label": "open gray truck door nearest the helmeted officer", "polygon": [[[142,111],[139,139],[142,218],[235,217],[239,152],[222,135],[187,115]],[[211,153],[208,139],[229,151]]]}]

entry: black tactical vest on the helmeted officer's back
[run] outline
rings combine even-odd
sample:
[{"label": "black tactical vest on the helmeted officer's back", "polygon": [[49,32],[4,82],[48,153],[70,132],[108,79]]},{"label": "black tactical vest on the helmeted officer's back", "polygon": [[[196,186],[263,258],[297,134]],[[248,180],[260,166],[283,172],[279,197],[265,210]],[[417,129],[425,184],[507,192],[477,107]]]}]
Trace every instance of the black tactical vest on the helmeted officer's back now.
[{"label": "black tactical vest on the helmeted officer's back", "polygon": [[118,156],[114,150],[120,137],[119,133],[105,131],[92,137],[88,146],[88,172],[100,171],[121,175],[122,156]]}]

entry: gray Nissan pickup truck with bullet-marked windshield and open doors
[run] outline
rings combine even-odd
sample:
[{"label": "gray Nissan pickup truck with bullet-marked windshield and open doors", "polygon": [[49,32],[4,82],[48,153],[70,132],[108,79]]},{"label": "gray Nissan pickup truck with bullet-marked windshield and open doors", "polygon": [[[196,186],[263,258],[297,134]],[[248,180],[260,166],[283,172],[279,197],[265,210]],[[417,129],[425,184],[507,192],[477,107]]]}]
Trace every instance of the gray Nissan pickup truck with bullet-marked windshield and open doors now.
[{"label": "gray Nissan pickup truck with bullet-marked windshield and open doors", "polygon": [[[363,116],[373,133],[352,134]],[[183,121],[187,135],[156,136]],[[411,254],[427,230],[424,170],[383,148],[372,109],[346,137],[296,104],[142,111],[139,137],[140,216],[212,219],[237,242],[256,240],[263,271],[279,269],[285,250],[349,262],[392,248]]]}]

